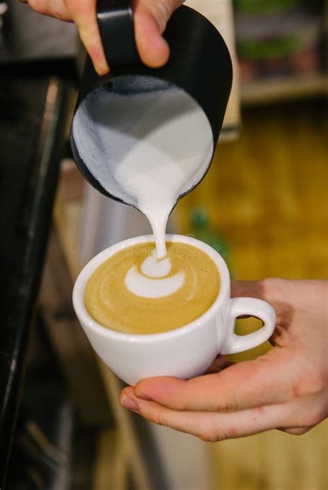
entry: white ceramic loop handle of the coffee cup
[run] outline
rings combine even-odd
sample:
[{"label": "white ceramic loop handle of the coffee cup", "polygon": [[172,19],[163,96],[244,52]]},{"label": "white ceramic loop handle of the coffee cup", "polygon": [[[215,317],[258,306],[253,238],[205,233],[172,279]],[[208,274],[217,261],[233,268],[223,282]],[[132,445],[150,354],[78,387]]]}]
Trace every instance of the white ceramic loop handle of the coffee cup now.
[{"label": "white ceramic loop handle of the coffee cup", "polygon": [[[226,341],[220,349],[221,354],[235,354],[259,346],[271,337],[275,330],[275,310],[272,306],[255,298],[234,298],[230,300],[228,332]],[[258,318],[264,325],[256,332],[247,335],[235,334],[235,321],[242,315]]]}]

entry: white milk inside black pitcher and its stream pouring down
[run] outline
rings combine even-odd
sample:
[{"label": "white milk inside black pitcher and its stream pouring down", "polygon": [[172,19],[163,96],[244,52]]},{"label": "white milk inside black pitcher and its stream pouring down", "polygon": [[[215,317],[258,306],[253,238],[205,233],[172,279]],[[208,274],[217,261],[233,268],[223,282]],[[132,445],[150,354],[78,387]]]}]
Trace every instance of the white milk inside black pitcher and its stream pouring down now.
[{"label": "white milk inside black pitcher and its stream pouring down", "polygon": [[[145,264],[147,275],[164,276],[167,265],[162,274],[158,259],[166,255],[167,220],[210,165],[212,129],[197,102],[175,86],[158,82],[158,90],[127,93],[120,84],[119,90],[100,88],[84,99],[73,135],[102,187],[147,216],[156,243],[156,254]],[[128,281],[135,288],[132,272]]]}]

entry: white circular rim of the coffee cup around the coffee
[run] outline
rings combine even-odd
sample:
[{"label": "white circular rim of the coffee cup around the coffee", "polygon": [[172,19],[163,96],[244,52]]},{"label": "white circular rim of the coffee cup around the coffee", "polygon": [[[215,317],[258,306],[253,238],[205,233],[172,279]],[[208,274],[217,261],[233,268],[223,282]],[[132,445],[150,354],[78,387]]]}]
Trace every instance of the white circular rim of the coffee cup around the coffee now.
[{"label": "white circular rim of the coffee cup around the coffee", "polygon": [[194,238],[193,236],[166,234],[165,239],[166,241],[171,241],[174,243],[182,242],[187,245],[197,247],[208,254],[210,258],[212,258],[212,261],[215,263],[215,265],[217,266],[217,270],[219,271],[220,287],[217,297],[210,308],[208,308],[208,310],[201,314],[201,316],[197,319],[190,321],[189,323],[186,323],[179,328],[174,328],[174,330],[167,330],[166,332],[154,334],[131,334],[126,332],[118,332],[117,330],[111,330],[111,328],[102,326],[101,323],[98,323],[98,321],[95,321],[91,317],[84,305],[84,288],[89,277],[102,262],[106,261],[107,258],[112,256],[113,254],[116,254],[116,252],[130,247],[131,245],[138,245],[141,243],[154,241],[154,235],[142,235],[136,236],[134,238],[128,238],[125,241],[121,241],[116,243],[115,245],[107,247],[106,249],[102,250],[102,252],[91,258],[91,261],[86,263],[86,265],[84,265],[73,286],[73,307],[83,327],[86,326],[87,328],[89,328],[89,330],[93,330],[93,332],[97,334],[102,334],[105,337],[110,337],[112,339],[133,342],[141,341],[145,343],[148,341],[162,341],[167,338],[180,337],[190,330],[200,328],[201,326],[203,326],[204,323],[206,323],[206,321],[208,321],[208,319],[210,319],[210,317],[212,317],[212,314],[221,306],[221,304],[223,304],[224,299],[227,296],[230,296],[230,274],[224,259],[221,257],[219,252],[210,247],[210,245],[207,245],[206,243],[197,240],[197,238]]}]

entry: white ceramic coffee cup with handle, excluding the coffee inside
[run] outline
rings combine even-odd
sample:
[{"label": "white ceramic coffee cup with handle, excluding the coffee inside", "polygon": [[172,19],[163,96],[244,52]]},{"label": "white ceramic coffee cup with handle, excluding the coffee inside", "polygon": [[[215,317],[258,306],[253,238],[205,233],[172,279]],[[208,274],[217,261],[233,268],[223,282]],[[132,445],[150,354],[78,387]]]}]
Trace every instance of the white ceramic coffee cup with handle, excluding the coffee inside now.
[{"label": "white ceramic coffee cup with handle, excluding the coffee inside", "polygon": [[[120,379],[132,386],[146,377],[188,379],[200,375],[218,354],[233,354],[256,347],[271,337],[275,328],[275,311],[265,301],[230,298],[228,267],[215,249],[190,236],[167,235],[166,240],[203,250],[219,271],[217,299],[197,320],[163,333],[126,334],[103,327],[87,312],[84,288],[95,269],[122,249],[154,241],[153,235],[129,238],[100,252],[82,269],[73,289],[75,312],[95,352]],[[237,335],[235,320],[241,315],[261,319],[264,325],[253,333]]]}]

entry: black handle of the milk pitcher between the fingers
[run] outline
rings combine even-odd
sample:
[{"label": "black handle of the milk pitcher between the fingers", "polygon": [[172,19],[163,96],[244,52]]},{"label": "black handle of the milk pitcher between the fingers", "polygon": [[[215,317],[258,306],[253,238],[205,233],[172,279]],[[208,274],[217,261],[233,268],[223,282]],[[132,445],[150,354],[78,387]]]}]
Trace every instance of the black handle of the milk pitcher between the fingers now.
[{"label": "black handle of the milk pitcher between the fingers", "polygon": [[97,22],[109,66],[140,62],[130,0],[98,0]]}]

